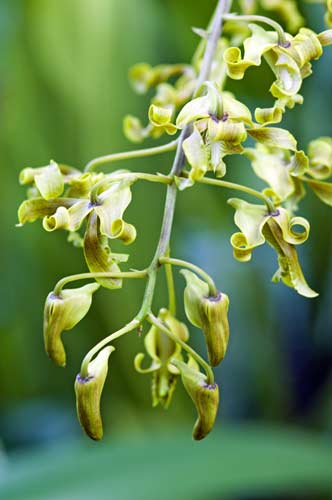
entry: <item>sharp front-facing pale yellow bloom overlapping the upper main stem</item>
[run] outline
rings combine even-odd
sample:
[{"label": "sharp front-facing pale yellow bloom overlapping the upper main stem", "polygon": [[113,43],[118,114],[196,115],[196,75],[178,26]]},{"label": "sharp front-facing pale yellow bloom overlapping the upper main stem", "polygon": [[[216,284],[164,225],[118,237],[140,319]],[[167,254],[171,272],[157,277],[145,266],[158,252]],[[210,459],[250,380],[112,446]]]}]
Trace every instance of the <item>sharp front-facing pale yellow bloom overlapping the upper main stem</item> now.
[{"label": "sharp front-facing pale yellow bloom overlapping the upper main stem", "polygon": [[281,120],[286,102],[287,99],[280,99],[275,108],[257,108],[255,116],[259,124],[253,123],[247,106],[229,92],[219,92],[211,85],[206,95],[186,104],[176,125],[181,129],[193,123],[192,133],[183,141],[191,170],[186,179],[178,180],[180,189],[191,186],[208,171],[223,177],[226,173],[224,156],[243,153],[242,143],[248,134],[266,147],[296,151],[297,142],[288,130],[267,126]]}]

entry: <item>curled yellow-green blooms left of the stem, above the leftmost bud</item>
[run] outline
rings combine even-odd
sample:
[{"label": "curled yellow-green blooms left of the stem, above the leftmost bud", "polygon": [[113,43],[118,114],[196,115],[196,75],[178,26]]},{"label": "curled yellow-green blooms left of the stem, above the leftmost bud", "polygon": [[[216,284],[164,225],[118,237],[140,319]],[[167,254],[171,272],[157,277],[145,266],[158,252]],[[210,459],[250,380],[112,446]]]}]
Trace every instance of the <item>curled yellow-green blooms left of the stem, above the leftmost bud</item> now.
[{"label": "curled yellow-green blooms left of the stem, above the leftmost bud", "polygon": [[[128,255],[112,253],[109,242],[119,239],[130,245],[136,229],[123,219],[131,202],[135,176],[123,170],[95,174],[58,165],[54,161],[40,168],[26,168],[21,184],[31,184],[29,198],[18,211],[20,225],[42,219],[46,231],[63,229],[68,240],[83,247],[92,273],[118,272]],[[119,279],[99,279],[106,288],[119,288]]]}]

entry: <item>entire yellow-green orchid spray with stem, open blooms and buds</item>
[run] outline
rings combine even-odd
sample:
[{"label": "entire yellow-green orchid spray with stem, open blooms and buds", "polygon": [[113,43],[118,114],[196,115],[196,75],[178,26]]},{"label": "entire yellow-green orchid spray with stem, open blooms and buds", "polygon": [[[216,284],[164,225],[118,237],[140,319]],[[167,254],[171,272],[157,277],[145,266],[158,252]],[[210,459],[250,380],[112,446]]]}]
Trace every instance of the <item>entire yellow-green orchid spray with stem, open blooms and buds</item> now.
[{"label": "entire yellow-green orchid spray with stem, open blooms and buds", "polygon": [[[212,429],[218,412],[219,389],[213,368],[224,359],[229,342],[229,298],[217,289],[203,269],[173,258],[170,252],[171,225],[178,194],[196,183],[210,184],[255,197],[258,202],[230,198],[239,231],[231,236],[234,257],[248,262],[253,250],[267,242],[276,252],[278,268],[272,280],[282,281],[304,297],[316,297],[308,285],[298,258],[297,246],[309,237],[309,222],[296,215],[306,187],[332,206],[332,138],[310,142],[307,152],[298,149],[295,137],[276,127],[287,108],[302,103],[299,94],[303,79],[312,72],[312,61],[332,44],[332,30],[316,34],[302,28],[303,19],[293,0],[240,2],[244,15],[227,15],[226,2],[219,0],[208,30],[195,28],[201,37],[191,64],[134,66],[129,73],[134,89],[146,93],[155,88],[148,109],[148,125],[128,115],[126,136],[134,142],[146,137],[175,135],[169,144],[150,149],[107,155],[92,160],[84,172],[51,161],[40,168],[26,168],[20,183],[28,185],[27,199],[18,211],[19,225],[42,219],[48,231],[63,229],[68,241],[82,248],[88,273],[60,280],[46,298],[44,342],[49,357],[59,366],[66,363],[62,340],[64,331],[74,328],[88,313],[94,293],[100,288],[117,289],[123,280],[147,280],[142,306],[135,318],[105,337],[85,356],[75,380],[77,414],[81,426],[92,439],[103,435],[100,401],[108,372],[113,342],[129,332],[149,328],[144,337],[146,354],[138,353],[134,367],[150,374],[152,404],[167,408],[176,384],[181,380],[197,410],[194,439],[204,438]],[[260,5],[284,18],[294,35],[285,33],[275,21],[254,13]],[[331,2],[327,2],[331,13]],[[331,17],[331,16],[330,16]],[[226,20],[221,37],[222,21]],[[329,14],[327,20],[330,20]],[[251,23],[247,26],[247,22]],[[264,30],[259,24],[270,24]],[[300,29],[299,29],[300,28]],[[297,32],[297,30],[299,31]],[[243,45],[243,53],[241,52]],[[270,92],[273,106],[257,107],[253,113],[236,95],[225,90],[226,78],[243,79],[250,67],[265,60],[275,75]],[[159,154],[176,149],[168,175],[126,170],[112,173],[94,171],[107,162]],[[227,180],[226,157],[243,155],[254,174],[266,186],[258,191]],[[123,270],[127,254],[113,253],[111,240],[130,245],[135,227],[125,220],[132,201],[132,187],[138,180],[162,183],[167,188],[161,236],[154,258],[143,270]],[[188,323],[202,332],[206,358],[189,343],[187,325],[176,316],[172,268],[181,267],[185,278],[183,306]],[[169,304],[153,313],[158,272],[164,267]],[[93,282],[65,288],[69,283]],[[150,358],[144,367],[145,356]]]}]

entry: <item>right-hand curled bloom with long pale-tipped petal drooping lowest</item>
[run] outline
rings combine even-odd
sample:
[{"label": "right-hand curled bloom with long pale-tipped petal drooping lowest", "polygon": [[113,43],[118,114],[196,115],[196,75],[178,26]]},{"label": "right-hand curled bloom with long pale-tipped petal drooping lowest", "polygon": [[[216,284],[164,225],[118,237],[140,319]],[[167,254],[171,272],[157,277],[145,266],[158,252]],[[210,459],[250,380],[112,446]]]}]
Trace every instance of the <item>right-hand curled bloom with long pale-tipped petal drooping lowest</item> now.
[{"label": "right-hand curled bloom with long pale-tipped petal drooping lowest", "polygon": [[[266,207],[238,198],[232,198],[228,203],[235,208],[235,224],[241,230],[231,237],[234,257],[240,262],[248,262],[254,248],[267,241],[277,252],[279,262],[273,281],[282,280],[300,295],[316,297],[317,293],[303,276],[295,248],[307,240],[309,222],[303,217],[290,217],[282,207],[275,213],[268,213]],[[302,231],[296,231],[296,227],[301,227]]]}]

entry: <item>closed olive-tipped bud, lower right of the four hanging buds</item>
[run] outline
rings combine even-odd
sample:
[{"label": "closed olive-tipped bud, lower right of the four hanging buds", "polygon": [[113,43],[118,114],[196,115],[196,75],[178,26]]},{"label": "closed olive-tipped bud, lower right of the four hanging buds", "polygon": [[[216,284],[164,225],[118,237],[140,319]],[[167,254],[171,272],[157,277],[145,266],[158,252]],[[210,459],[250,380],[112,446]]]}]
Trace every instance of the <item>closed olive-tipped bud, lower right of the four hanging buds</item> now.
[{"label": "closed olive-tipped bud, lower right of the four hanging buds", "polygon": [[198,418],[193,428],[193,438],[204,439],[212,430],[219,405],[219,388],[217,384],[208,384],[206,375],[198,368],[178,359],[172,363],[180,370],[182,383],[196,406]]}]

